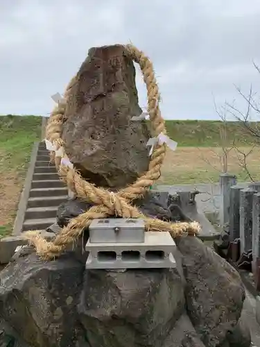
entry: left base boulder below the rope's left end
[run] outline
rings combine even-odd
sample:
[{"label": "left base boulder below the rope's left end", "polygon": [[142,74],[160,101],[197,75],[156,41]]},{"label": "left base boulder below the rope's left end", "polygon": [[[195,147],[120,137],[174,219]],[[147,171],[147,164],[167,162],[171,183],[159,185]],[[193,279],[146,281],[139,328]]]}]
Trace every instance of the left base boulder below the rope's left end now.
[{"label": "left base boulder below the rope's left end", "polygon": [[28,346],[76,346],[83,271],[70,254],[54,262],[35,254],[19,258],[0,273],[1,317]]}]

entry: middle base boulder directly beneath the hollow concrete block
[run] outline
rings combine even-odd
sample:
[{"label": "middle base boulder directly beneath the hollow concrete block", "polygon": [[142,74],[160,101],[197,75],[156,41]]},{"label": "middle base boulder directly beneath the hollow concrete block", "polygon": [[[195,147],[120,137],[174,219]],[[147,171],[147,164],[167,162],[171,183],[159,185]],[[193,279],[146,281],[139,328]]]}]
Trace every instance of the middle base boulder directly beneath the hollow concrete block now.
[{"label": "middle base boulder directly beneath the hollow concrete block", "polygon": [[175,269],[89,271],[78,312],[92,347],[161,347],[184,306],[184,287]]}]

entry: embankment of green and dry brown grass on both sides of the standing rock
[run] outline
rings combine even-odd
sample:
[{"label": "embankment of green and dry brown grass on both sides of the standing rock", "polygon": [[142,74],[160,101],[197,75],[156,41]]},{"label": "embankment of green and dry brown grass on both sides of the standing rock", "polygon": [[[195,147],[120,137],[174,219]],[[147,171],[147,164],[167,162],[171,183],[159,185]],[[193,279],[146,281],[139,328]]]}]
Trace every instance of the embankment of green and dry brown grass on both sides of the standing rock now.
[{"label": "embankment of green and dry brown grass on both sides of the standing rock", "polygon": [[[12,230],[19,194],[28,167],[33,143],[40,139],[41,117],[0,117],[0,235]],[[218,180],[221,165],[220,121],[166,121],[168,136],[178,142],[175,152],[168,151],[161,184],[210,183]],[[227,124],[227,146],[233,140],[248,152],[250,135],[236,122]],[[236,151],[229,153],[229,171],[245,180]],[[240,155],[241,156],[241,155]],[[258,178],[258,150],[248,157],[248,168]],[[260,178],[260,176],[259,176]]]}]

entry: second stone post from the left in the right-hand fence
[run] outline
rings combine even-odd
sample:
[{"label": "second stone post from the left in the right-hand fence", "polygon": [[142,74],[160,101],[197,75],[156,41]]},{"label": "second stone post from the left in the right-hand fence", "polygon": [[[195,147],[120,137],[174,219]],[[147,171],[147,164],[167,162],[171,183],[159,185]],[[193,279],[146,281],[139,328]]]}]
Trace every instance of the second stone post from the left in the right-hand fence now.
[{"label": "second stone post from the left in the right-hand fence", "polygon": [[240,237],[240,192],[243,187],[232,185],[229,200],[229,242]]}]

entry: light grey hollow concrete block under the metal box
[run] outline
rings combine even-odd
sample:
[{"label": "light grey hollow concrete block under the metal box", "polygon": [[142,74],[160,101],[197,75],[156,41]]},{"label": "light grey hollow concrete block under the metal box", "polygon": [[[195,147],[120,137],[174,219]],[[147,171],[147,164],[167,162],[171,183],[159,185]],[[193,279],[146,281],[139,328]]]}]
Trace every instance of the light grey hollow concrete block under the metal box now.
[{"label": "light grey hollow concrete block under the metal box", "polygon": [[155,269],[175,267],[175,242],[168,232],[145,232],[144,242],[87,242],[86,269]]}]

